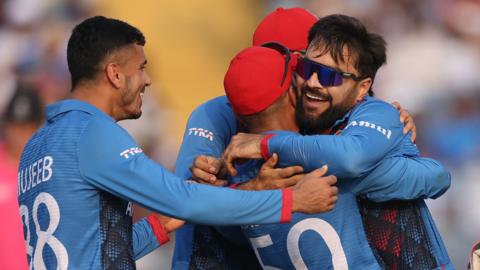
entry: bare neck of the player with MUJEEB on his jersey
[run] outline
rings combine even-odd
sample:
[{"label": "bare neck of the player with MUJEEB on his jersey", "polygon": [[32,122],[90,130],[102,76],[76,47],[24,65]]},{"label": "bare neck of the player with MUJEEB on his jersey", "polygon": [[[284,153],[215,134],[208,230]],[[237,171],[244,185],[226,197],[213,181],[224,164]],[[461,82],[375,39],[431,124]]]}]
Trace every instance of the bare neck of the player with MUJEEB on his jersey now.
[{"label": "bare neck of the player with MUJEEB on his jersey", "polygon": [[121,120],[119,112],[115,109],[115,99],[102,87],[94,84],[83,84],[74,88],[72,98],[78,99],[97,107],[116,121]]}]

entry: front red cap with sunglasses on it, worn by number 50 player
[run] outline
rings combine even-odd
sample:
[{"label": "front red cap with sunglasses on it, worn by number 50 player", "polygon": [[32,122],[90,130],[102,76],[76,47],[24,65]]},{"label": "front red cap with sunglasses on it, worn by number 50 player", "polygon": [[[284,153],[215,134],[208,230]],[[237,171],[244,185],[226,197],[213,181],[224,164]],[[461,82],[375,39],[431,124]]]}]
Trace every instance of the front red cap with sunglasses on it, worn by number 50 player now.
[{"label": "front red cap with sunglasses on it, worn by number 50 player", "polygon": [[223,80],[233,110],[239,115],[251,115],[272,105],[290,86],[295,65],[296,58],[292,57],[282,84],[284,55],[257,46],[241,51],[230,62]]}]

